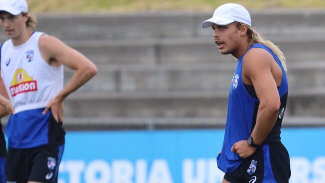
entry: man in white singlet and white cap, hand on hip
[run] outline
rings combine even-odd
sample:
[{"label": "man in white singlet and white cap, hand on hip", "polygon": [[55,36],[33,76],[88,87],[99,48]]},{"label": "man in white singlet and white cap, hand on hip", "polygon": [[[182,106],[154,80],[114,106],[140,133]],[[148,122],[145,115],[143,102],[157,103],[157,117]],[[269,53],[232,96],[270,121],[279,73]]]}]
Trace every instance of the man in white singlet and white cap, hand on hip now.
[{"label": "man in white singlet and white cap, hand on hip", "polygon": [[[25,0],[0,0],[0,23],[9,38],[0,48],[1,81],[9,97],[0,94],[0,104],[10,113],[6,182],[57,182],[63,100],[97,68],[59,39],[33,31],[36,20]],[[64,87],[63,65],[75,70]]]}]

